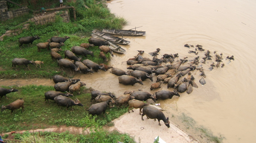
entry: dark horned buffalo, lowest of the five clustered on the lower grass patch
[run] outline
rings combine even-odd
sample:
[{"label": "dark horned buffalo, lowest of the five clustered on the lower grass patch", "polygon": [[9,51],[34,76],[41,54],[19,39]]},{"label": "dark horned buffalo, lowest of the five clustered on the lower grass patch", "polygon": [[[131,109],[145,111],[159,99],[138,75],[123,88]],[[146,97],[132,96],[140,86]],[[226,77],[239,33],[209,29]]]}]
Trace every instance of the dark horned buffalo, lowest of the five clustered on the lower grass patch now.
[{"label": "dark horned buffalo, lowest of the five clustered on the lower grass patch", "polygon": [[[62,107],[72,107],[72,106],[84,106],[83,104],[81,104],[81,102],[76,98],[76,101],[72,100],[71,98],[62,96],[62,95],[58,95],[54,98],[54,101],[57,103],[58,106],[62,106]],[[66,109],[66,110],[67,110]]]}]

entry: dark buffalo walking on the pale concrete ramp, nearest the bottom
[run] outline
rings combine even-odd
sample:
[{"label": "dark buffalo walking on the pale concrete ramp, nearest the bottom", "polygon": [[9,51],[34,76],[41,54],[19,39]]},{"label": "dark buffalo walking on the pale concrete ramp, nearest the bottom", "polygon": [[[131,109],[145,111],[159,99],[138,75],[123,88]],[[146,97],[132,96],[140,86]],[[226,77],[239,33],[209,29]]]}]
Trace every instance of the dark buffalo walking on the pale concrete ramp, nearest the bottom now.
[{"label": "dark buffalo walking on the pale concrete ramp, nearest the bottom", "polygon": [[156,107],[152,107],[152,106],[145,106],[145,107],[143,107],[142,112],[143,112],[143,114],[141,115],[141,119],[143,121],[144,121],[143,116],[146,115],[148,119],[149,118],[154,119],[154,120],[157,119],[159,126],[161,126],[160,120],[163,120],[164,124],[168,128],[170,127],[169,117],[166,118],[160,109],[157,109]]}]

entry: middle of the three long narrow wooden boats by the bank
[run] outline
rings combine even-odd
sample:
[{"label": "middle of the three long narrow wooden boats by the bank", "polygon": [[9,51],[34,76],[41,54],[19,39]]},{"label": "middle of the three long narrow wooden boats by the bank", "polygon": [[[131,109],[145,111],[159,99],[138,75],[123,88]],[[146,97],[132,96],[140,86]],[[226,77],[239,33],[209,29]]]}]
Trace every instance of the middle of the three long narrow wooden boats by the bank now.
[{"label": "middle of the three long narrow wooden boats by the bank", "polygon": [[127,45],[130,43],[130,41],[127,41],[125,39],[122,39],[122,38],[119,38],[117,36],[113,36],[111,34],[107,34],[107,33],[104,33],[102,31],[98,31],[98,30],[93,30],[92,31],[93,34],[97,34],[99,36],[102,36],[103,38],[105,39],[108,39],[116,44],[121,44],[121,45]]}]

